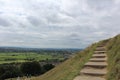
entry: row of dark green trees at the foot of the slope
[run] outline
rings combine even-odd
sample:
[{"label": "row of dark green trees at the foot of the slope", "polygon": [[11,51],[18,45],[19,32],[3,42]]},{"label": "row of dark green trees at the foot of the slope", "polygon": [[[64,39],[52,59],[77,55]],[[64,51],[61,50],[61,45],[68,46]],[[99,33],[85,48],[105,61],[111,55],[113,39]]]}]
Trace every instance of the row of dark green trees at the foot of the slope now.
[{"label": "row of dark green trees at the foot of the slope", "polygon": [[18,66],[14,64],[0,65],[0,80],[15,78],[18,76],[38,76],[54,67],[55,66],[52,64],[44,64],[41,66],[40,63],[36,61],[24,62]]}]

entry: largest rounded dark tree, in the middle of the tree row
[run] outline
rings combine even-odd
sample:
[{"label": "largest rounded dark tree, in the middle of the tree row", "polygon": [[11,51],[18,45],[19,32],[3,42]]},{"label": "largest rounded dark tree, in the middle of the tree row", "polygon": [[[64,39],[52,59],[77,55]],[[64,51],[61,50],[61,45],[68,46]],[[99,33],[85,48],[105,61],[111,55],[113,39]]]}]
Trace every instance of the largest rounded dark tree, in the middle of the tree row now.
[{"label": "largest rounded dark tree, in the middle of the tree row", "polygon": [[35,75],[41,74],[41,66],[39,62],[22,63],[20,66],[20,69],[25,76],[28,76],[28,75],[35,76]]}]

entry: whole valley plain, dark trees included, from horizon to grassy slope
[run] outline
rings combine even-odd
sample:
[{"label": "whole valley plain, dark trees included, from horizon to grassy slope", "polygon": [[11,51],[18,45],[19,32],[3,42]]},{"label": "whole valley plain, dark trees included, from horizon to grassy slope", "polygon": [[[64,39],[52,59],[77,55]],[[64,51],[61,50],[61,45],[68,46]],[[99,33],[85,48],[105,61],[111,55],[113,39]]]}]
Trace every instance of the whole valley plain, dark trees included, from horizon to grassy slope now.
[{"label": "whole valley plain, dark trees included, from horizon to grassy slope", "polygon": [[0,80],[42,75],[80,50],[0,47]]}]

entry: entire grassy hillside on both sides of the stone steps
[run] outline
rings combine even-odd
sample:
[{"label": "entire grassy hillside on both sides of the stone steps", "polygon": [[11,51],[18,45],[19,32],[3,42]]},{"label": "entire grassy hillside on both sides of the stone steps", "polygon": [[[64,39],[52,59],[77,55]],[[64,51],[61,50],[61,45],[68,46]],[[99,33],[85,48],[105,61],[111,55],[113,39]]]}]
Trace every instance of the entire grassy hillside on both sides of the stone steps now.
[{"label": "entire grassy hillside on both sides of the stone steps", "polygon": [[84,64],[91,58],[97,45],[106,42],[108,54],[108,73],[106,80],[120,80],[120,35],[91,45],[46,74],[35,77],[32,80],[73,80],[79,74]]}]

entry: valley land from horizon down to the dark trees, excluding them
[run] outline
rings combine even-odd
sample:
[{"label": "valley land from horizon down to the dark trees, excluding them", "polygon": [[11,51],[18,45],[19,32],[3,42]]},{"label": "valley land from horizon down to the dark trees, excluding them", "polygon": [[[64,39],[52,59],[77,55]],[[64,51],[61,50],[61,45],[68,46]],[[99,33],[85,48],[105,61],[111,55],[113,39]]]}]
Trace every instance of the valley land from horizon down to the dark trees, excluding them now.
[{"label": "valley land from horizon down to the dark trees, excluding them", "polygon": [[68,58],[76,50],[57,50],[57,49],[4,49],[0,52],[0,64],[4,63],[20,63],[25,61],[46,61],[46,60],[64,60]]}]

